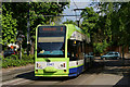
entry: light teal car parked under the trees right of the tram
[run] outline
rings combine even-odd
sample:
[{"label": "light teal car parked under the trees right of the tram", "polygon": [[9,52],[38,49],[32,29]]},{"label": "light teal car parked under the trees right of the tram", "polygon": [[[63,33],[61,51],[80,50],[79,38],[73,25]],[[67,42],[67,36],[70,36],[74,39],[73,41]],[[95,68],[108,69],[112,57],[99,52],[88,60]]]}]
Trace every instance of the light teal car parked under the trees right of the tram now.
[{"label": "light teal car parked under the trees right of the tram", "polygon": [[102,59],[102,60],[103,60],[103,59],[120,59],[120,58],[121,58],[121,57],[120,57],[119,52],[114,52],[114,51],[107,52],[106,54],[101,55],[101,59]]}]

